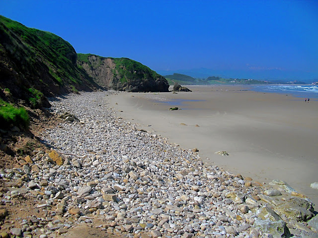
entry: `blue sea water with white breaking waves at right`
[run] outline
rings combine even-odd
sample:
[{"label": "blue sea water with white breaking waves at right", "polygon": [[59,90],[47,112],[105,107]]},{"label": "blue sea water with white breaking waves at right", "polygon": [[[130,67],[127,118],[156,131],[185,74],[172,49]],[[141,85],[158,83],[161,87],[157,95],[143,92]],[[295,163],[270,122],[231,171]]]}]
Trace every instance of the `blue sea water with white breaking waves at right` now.
[{"label": "blue sea water with white breaking waves at right", "polygon": [[250,89],[256,92],[281,93],[300,98],[318,99],[318,85],[255,85]]}]

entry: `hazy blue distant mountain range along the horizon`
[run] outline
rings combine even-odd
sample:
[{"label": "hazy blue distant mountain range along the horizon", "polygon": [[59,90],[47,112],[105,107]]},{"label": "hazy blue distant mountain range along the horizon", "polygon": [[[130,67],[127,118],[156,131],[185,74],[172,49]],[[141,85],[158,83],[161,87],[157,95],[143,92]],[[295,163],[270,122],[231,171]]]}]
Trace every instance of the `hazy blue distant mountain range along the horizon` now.
[{"label": "hazy blue distant mountain range along the horizon", "polygon": [[179,70],[158,70],[159,74],[172,75],[173,73],[185,74],[194,78],[207,78],[218,76],[221,78],[246,78],[256,80],[279,80],[283,82],[303,81],[311,83],[318,81],[318,74],[304,71],[285,71],[279,69],[263,70],[214,70],[209,68],[179,69]]}]

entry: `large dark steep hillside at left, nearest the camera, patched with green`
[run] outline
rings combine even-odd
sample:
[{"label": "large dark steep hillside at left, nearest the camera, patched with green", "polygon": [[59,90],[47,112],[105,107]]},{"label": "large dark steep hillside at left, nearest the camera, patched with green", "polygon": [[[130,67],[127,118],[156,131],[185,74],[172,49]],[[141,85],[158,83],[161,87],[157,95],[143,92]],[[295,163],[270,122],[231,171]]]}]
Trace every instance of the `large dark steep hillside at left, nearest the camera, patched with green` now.
[{"label": "large dark steep hillside at left, nearest the camera, patched with green", "polygon": [[70,43],[3,16],[0,16],[0,79],[2,89],[8,88],[13,98],[35,108],[48,105],[44,96],[98,87],[78,68],[77,54]]}]

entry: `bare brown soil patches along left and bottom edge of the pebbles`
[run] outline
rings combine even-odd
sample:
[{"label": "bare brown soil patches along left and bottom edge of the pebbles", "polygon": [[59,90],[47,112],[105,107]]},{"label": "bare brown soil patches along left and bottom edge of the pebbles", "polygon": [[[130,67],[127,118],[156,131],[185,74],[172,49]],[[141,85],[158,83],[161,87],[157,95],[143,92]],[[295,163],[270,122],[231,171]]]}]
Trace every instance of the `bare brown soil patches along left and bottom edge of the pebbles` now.
[{"label": "bare brown soil patches along left and bottom edge of the pebbles", "polygon": [[[51,115],[46,110],[31,110],[28,109],[31,116],[29,131],[0,131],[2,146],[5,145],[5,152],[0,150],[0,169],[22,168],[23,158],[27,155],[31,157],[36,154],[36,151],[47,151],[49,147],[40,141],[40,134],[45,129],[54,128],[60,122],[56,116]],[[39,201],[36,199],[36,194],[27,193],[27,189],[20,187],[17,182],[7,182],[5,179],[0,179],[0,197],[7,191],[19,190],[19,197],[12,198],[11,203],[2,203],[0,201],[0,233],[6,232],[10,234],[11,228],[21,227],[22,220],[27,220],[28,224],[40,224],[37,218],[46,218],[47,213],[42,209],[37,209]],[[58,218],[60,219],[60,218]],[[97,221],[101,222],[101,221]],[[100,228],[96,228],[96,224],[89,226],[79,226],[70,228],[63,237],[67,238],[119,238],[112,234],[107,234]]]}]

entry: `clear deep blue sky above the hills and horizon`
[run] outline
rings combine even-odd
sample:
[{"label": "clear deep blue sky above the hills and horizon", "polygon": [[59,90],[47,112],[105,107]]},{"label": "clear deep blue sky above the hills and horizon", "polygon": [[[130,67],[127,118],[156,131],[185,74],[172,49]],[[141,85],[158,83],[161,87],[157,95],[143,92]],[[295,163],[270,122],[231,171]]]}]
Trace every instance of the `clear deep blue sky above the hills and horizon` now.
[{"label": "clear deep blue sky above the hills and horizon", "polygon": [[78,53],[154,70],[299,71],[318,78],[318,1],[1,0],[0,14]]}]

